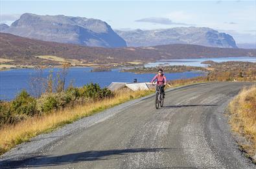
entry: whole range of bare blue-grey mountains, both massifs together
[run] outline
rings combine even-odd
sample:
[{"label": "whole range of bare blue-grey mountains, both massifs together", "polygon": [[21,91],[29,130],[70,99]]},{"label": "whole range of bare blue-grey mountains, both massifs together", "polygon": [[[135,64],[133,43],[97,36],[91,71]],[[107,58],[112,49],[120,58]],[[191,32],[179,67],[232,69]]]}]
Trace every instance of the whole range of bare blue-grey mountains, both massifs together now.
[{"label": "whole range of bare blue-grey mountains, both massifs together", "polygon": [[107,48],[169,44],[237,48],[231,35],[211,28],[179,27],[161,30],[114,31],[108,23],[99,19],[65,15],[26,13],[10,26],[1,24],[0,32],[42,41]]}]

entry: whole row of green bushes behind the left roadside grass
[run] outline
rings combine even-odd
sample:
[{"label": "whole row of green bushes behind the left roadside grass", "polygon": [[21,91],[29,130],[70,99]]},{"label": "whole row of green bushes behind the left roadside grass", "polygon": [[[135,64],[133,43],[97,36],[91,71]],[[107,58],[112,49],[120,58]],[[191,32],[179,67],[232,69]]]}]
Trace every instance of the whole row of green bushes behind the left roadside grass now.
[{"label": "whole row of green bushes behind the left roadside grass", "polygon": [[108,88],[100,88],[99,84],[89,83],[82,88],[70,86],[67,90],[58,93],[45,93],[40,98],[31,97],[23,90],[9,102],[0,101],[0,126],[6,123],[13,124],[28,116],[58,110],[68,105],[88,99],[102,99],[113,93]]}]

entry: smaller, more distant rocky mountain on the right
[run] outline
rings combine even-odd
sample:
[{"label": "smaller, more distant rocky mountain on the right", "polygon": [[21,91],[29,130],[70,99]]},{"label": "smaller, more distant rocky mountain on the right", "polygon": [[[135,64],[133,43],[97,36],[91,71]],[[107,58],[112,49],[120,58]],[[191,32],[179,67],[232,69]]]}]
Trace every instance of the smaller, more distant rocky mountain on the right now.
[{"label": "smaller, more distant rocky mountain on the right", "polygon": [[211,28],[178,27],[158,30],[115,30],[128,46],[156,46],[170,44],[202,45],[220,48],[237,48],[229,34]]}]

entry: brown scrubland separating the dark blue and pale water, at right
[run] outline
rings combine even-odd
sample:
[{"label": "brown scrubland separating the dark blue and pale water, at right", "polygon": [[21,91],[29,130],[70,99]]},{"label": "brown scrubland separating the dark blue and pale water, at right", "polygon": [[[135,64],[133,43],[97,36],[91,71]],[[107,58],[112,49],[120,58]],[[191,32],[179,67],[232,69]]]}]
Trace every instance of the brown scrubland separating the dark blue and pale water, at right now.
[{"label": "brown scrubland separating the dark blue and pale water, at right", "polygon": [[[205,61],[204,63],[208,64],[209,67],[202,68],[197,66],[157,66],[149,68],[139,67],[133,69],[124,69],[122,71],[143,74],[156,73],[158,68],[163,68],[164,72],[166,73],[202,71],[207,73],[207,77],[203,78],[206,78],[205,81],[256,81],[256,63],[240,61],[227,61],[222,63]],[[200,77],[192,78],[192,81],[198,78]],[[177,81],[191,81],[191,79],[181,79]]]}]

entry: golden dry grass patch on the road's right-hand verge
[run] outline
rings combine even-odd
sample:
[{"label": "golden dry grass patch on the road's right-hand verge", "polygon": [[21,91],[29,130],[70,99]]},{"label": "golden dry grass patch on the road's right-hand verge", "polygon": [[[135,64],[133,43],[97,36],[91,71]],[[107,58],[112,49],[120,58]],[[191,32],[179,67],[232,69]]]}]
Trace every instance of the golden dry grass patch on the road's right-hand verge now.
[{"label": "golden dry grass patch on the road's right-hand verge", "polygon": [[[233,131],[249,141],[240,146],[250,155],[256,155],[256,86],[243,88],[239,95],[229,103]],[[255,161],[256,162],[256,161]]]}]

